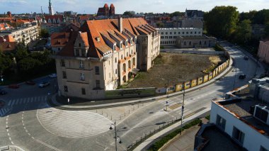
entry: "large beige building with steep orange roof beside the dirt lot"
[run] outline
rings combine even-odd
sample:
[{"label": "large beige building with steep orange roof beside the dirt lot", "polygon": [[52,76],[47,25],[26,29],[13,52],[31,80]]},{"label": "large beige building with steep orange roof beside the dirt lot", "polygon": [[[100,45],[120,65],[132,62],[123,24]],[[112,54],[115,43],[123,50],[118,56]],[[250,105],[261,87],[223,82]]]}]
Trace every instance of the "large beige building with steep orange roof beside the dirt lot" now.
[{"label": "large beige building with steep orange roof beside the dirt lot", "polygon": [[160,51],[158,31],[143,18],[86,21],[68,37],[55,56],[63,96],[105,99],[105,90],[151,68]]}]

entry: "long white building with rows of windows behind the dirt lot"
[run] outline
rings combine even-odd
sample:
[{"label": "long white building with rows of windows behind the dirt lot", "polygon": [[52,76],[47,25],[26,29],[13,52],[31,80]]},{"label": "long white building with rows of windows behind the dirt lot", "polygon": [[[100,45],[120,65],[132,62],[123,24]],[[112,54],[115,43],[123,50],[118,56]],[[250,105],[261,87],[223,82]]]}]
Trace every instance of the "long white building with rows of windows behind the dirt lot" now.
[{"label": "long white building with rows of windows behind the dirt lot", "polygon": [[202,28],[156,28],[161,35],[161,45],[176,45],[178,37],[202,36]]}]

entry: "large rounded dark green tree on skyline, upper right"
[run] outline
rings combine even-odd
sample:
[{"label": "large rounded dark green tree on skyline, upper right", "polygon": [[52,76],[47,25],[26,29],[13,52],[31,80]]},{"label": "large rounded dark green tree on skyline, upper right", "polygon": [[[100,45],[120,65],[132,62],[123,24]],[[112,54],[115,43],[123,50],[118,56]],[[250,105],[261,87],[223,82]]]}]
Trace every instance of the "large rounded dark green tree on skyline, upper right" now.
[{"label": "large rounded dark green tree on skyline, upper right", "polygon": [[234,6],[215,6],[205,13],[205,27],[207,33],[220,38],[229,38],[236,29],[239,21],[239,12]]}]

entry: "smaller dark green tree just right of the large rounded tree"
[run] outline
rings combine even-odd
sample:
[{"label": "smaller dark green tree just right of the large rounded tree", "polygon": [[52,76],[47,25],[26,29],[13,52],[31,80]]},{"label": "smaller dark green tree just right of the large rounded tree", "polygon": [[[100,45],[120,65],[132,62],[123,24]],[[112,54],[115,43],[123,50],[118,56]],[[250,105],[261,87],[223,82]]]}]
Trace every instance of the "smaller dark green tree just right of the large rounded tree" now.
[{"label": "smaller dark green tree just right of the large rounded tree", "polygon": [[251,21],[244,20],[239,23],[236,31],[234,32],[234,40],[236,43],[246,43],[248,40],[251,40]]}]

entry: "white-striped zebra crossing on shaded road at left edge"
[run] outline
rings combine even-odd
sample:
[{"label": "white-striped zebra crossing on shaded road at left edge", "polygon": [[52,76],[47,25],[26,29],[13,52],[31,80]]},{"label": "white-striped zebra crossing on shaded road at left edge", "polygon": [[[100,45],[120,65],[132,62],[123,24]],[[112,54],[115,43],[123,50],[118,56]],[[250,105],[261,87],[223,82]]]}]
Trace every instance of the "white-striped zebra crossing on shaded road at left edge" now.
[{"label": "white-striped zebra crossing on shaded road at left edge", "polygon": [[25,104],[31,104],[35,102],[46,101],[47,96],[33,96],[28,98],[20,98],[20,99],[11,99],[6,101],[6,105],[3,108],[0,108],[0,117],[6,116],[13,107],[15,106],[23,106]]}]

